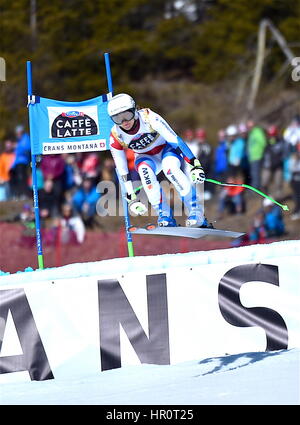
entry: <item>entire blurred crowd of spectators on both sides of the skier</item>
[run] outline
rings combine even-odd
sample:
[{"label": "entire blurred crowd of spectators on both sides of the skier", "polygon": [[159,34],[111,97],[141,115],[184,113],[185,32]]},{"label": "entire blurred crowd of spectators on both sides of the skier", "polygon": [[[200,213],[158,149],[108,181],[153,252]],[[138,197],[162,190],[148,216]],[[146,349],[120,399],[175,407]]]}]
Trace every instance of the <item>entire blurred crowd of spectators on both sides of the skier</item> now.
[{"label": "entire blurred crowd of spectators on both sides of the skier", "polygon": [[[230,124],[218,131],[216,144],[208,140],[204,128],[187,129],[182,136],[200,159],[207,178],[229,184],[246,183],[279,202],[287,196],[284,187],[289,187],[293,198],[291,219],[300,220],[299,115],[285,129],[280,129],[274,123],[263,127],[253,120]],[[19,125],[14,137],[7,137],[0,146],[0,201],[24,201],[25,207],[19,219],[23,217],[26,229],[31,229],[28,222],[33,221],[34,214],[30,207],[29,135]],[[133,153],[127,150],[126,154],[132,178],[138,180]],[[108,152],[41,157],[37,164],[37,186],[42,225],[50,222],[56,233],[60,229],[62,239],[81,243],[85,228],[92,228],[97,223],[96,204],[101,197],[97,183],[101,180],[116,182],[114,162]],[[251,193],[248,191],[245,196],[245,189],[240,186],[221,187],[206,183],[204,199],[215,201],[216,216],[221,219],[226,214],[245,214]],[[278,218],[278,208],[274,208],[273,215]],[[260,241],[285,232],[282,217],[273,220],[270,225],[269,209],[270,205],[263,205],[253,217],[247,233],[248,241]],[[278,231],[273,228],[275,222]],[[74,237],[67,237],[66,229],[71,229]]]}]

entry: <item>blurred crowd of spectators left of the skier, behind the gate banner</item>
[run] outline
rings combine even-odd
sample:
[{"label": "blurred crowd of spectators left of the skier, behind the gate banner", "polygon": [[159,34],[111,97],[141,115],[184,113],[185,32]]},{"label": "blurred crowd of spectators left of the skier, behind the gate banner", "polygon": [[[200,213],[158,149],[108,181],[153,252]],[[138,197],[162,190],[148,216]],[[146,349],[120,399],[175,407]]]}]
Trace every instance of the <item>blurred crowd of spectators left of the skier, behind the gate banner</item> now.
[{"label": "blurred crowd of spectators left of the skier, behind the gate banner", "polygon": [[[0,153],[0,201],[23,201],[24,240],[34,233],[30,138],[22,126],[3,141]],[[102,153],[44,155],[37,162],[37,189],[44,241],[82,243],[86,228],[97,226],[96,204],[101,179],[115,180],[113,160]],[[69,235],[67,236],[67,233]]]}]

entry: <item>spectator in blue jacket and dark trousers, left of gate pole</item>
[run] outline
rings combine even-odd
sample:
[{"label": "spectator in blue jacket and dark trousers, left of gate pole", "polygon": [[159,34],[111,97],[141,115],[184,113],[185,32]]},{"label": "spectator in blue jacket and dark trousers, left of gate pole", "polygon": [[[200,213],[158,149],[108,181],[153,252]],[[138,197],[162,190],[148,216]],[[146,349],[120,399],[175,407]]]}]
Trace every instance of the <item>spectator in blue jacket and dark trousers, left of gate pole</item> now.
[{"label": "spectator in blue jacket and dark trousers, left of gate pole", "polygon": [[27,169],[30,163],[30,138],[24,127],[16,127],[17,146],[15,160],[11,166],[12,195],[17,199],[26,199],[29,195]]}]

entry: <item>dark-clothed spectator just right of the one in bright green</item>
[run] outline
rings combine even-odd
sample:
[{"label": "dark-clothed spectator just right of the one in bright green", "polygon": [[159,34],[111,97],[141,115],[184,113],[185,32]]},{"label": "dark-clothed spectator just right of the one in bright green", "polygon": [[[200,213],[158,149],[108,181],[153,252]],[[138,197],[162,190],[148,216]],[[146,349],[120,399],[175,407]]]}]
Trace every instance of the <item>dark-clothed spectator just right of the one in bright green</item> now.
[{"label": "dark-clothed spectator just right of the one in bright green", "polygon": [[276,125],[267,128],[267,146],[262,161],[262,189],[268,192],[273,185],[272,195],[275,198],[282,196],[283,188],[283,161],[286,152],[286,143],[279,135]]}]

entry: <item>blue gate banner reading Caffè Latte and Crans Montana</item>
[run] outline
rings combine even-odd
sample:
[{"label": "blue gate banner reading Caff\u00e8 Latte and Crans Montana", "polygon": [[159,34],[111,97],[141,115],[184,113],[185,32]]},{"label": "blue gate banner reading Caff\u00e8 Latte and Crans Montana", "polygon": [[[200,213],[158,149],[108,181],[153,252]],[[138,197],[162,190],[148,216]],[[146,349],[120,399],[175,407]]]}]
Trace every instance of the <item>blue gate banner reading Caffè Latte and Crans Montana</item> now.
[{"label": "blue gate banner reading Caff\u00e8 Latte and Crans Montana", "polygon": [[109,149],[113,121],[107,113],[108,96],[82,102],[29,98],[31,150],[34,155]]}]

